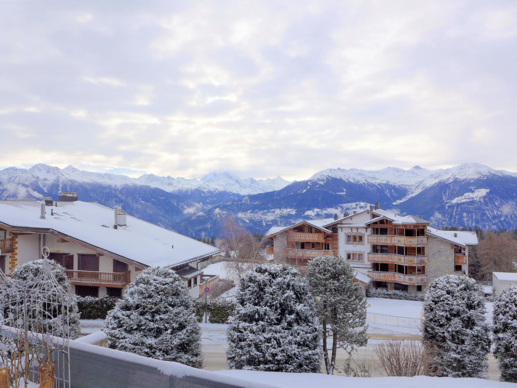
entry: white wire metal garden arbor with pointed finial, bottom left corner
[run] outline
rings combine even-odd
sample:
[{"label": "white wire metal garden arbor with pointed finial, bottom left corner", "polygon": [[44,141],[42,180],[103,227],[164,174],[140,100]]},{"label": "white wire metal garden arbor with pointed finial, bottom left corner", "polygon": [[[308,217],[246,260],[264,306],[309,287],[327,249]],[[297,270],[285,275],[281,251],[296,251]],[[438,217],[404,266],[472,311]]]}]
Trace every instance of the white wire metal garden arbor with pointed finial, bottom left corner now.
[{"label": "white wire metal garden arbor with pointed finial, bottom left corner", "polygon": [[54,388],[70,388],[71,296],[52,274],[49,249],[27,281],[0,270],[0,362],[11,383],[37,382],[40,366],[52,366]]}]

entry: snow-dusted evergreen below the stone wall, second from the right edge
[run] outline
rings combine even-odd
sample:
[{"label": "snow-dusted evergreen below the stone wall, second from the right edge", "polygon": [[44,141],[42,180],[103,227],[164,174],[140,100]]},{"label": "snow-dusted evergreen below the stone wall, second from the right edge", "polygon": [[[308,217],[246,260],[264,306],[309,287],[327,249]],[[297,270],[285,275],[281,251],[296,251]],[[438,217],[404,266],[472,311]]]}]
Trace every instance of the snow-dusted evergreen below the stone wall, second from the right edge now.
[{"label": "snow-dusted evergreen below the stone wall, second from the right edge", "polygon": [[474,279],[445,275],[431,282],[423,305],[422,343],[437,376],[485,377],[489,327]]}]

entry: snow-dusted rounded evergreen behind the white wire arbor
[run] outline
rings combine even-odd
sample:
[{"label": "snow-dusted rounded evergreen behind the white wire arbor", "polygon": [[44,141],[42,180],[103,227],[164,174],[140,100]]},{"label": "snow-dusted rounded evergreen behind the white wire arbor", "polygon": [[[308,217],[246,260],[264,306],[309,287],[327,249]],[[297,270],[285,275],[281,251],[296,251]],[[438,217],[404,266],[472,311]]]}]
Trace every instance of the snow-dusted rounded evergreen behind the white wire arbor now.
[{"label": "snow-dusted rounded evergreen behind the white wire arbor", "polygon": [[[62,290],[59,290],[57,287],[52,289],[55,293],[45,293],[43,291],[38,292],[36,281],[42,274],[43,260],[34,260],[23,263],[22,265],[14,268],[12,273],[12,278],[19,287],[33,289],[31,295],[29,295],[29,299],[27,300],[29,330],[32,329],[37,332],[41,331],[41,329],[38,328],[44,327],[45,330],[48,330],[53,335],[63,336],[68,329],[70,338],[75,339],[79,336],[81,331],[77,302],[74,297],[65,297],[63,300],[59,300],[59,302],[63,301],[68,303],[69,324],[68,328],[63,327],[63,310],[62,306],[55,303],[57,300],[56,295],[58,293],[63,293],[63,291],[68,293],[71,286],[68,282],[68,278],[66,277],[65,268],[54,260],[49,260],[49,264],[52,275],[54,276],[57,284],[62,288]],[[53,287],[52,283],[48,283],[47,287]],[[45,301],[47,301],[47,303],[45,303]],[[42,315],[46,315],[47,318],[41,318]]]}]

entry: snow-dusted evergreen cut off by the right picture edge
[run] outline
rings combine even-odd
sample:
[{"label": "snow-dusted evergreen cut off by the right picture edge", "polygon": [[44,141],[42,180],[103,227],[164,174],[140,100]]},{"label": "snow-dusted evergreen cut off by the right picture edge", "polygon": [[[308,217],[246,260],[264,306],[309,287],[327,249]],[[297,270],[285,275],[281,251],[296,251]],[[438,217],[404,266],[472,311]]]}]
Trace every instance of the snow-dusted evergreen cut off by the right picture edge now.
[{"label": "snow-dusted evergreen cut off by the right picture edge", "polygon": [[496,294],[493,330],[501,381],[517,383],[517,286]]}]

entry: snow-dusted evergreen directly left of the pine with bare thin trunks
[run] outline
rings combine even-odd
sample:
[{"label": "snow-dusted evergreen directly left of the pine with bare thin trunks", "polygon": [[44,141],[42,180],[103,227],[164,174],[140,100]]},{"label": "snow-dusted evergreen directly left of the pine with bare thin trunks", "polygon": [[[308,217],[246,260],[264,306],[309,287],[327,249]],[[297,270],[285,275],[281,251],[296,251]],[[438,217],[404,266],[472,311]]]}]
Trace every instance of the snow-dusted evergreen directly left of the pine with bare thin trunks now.
[{"label": "snow-dusted evergreen directly left of the pine with bare thin trunks", "polygon": [[307,282],[287,265],[259,265],[242,276],[226,337],[228,366],[319,372],[319,323]]}]

